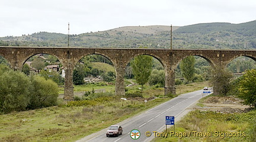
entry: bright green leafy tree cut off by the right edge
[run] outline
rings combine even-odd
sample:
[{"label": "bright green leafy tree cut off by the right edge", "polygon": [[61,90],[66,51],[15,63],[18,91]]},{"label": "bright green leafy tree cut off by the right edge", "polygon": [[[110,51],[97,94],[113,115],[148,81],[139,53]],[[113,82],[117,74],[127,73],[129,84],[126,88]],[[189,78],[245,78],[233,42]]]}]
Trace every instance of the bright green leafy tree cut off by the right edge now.
[{"label": "bright green leafy tree cut off by the right edge", "polygon": [[256,69],[247,70],[239,82],[239,98],[245,105],[256,106]]}]

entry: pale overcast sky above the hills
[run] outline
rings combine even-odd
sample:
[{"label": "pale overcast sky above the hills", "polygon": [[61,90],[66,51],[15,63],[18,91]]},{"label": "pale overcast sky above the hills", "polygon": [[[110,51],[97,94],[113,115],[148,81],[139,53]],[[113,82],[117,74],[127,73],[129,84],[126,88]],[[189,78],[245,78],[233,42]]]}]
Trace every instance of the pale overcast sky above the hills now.
[{"label": "pale overcast sky above the hills", "polygon": [[0,37],[256,20],[255,0],[1,0]]}]

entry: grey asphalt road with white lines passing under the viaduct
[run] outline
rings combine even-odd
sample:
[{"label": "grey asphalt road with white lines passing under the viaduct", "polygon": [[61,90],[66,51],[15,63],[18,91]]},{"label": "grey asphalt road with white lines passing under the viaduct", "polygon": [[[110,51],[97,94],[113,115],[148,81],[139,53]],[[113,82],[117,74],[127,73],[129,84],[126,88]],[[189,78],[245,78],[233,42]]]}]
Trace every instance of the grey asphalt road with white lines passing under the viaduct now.
[{"label": "grey asphalt road with white lines passing under the viaduct", "polygon": [[[175,122],[177,122],[183,115],[188,112],[186,110],[188,106],[194,104],[195,102],[197,102],[197,100],[202,98],[202,93],[203,90],[184,93],[177,96],[176,98],[171,99],[168,102],[165,102],[164,104],[149,109],[142,114],[119,122],[117,125],[121,125],[121,127],[123,127],[123,134],[119,135],[119,137],[106,137],[105,133],[107,131],[107,128],[105,128],[104,130],[88,135],[87,137],[84,137],[76,142],[151,141],[155,137],[153,131],[161,133],[162,130],[165,130],[165,116],[174,116]],[[170,126],[171,125],[168,125],[168,127]],[[137,129],[140,131],[140,137],[137,140],[133,140],[130,137],[130,131],[132,131],[133,129]],[[146,137],[146,131],[151,132],[150,137]]]}]

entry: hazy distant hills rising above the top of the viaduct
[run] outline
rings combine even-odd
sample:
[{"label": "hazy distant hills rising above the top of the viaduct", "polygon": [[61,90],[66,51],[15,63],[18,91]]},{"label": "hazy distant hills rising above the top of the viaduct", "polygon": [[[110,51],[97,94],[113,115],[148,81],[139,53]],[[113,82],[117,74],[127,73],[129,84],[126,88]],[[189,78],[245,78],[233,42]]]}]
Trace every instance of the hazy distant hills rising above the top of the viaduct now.
[{"label": "hazy distant hills rising above the top of the viaduct", "polygon": [[[213,22],[172,27],[173,49],[256,49],[256,21]],[[70,35],[71,47],[170,48],[170,26],[127,26]],[[68,35],[39,32],[1,37],[0,46],[67,47]]]}]

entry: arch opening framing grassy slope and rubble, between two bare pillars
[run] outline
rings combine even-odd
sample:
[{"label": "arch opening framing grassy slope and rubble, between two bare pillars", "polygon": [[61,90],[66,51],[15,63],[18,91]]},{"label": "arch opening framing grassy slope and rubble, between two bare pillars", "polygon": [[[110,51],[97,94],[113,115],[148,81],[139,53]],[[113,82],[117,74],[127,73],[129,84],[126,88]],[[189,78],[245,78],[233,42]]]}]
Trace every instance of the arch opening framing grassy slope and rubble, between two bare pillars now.
[{"label": "arch opening framing grassy slope and rubble, between two bare pillars", "polygon": [[82,57],[73,69],[74,96],[84,94],[114,92],[116,68],[108,57],[101,54],[88,54]]}]

